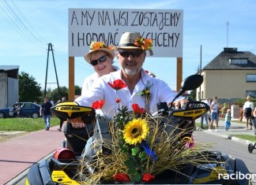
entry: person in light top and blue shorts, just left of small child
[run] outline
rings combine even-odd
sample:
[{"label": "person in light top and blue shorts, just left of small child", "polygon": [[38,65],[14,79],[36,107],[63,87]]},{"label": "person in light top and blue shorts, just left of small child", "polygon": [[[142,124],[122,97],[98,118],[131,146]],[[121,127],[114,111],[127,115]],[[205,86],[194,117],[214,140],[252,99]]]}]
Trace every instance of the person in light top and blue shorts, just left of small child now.
[{"label": "person in light top and blue shorts, just left of small child", "polygon": [[211,122],[209,124],[209,130],[212,131],[211,128],[213,127],[213,122],[215,122],[215,131],[218,131],[218,122],[219,122],[219,115],[218,115],[218,110],[219,110],[219,105],[217,102],[218,98],[215,96],[213,98],[213,102],[210,106],[211,109]]}]

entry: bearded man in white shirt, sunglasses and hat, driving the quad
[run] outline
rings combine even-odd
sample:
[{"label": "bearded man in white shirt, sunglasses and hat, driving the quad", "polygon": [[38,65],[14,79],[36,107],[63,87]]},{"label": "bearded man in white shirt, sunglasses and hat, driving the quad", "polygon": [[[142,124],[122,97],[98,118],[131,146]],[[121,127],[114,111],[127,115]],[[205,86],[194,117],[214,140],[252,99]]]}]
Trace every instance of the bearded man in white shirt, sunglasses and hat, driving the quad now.
[{"label": "bearded man in white shirt, sunglasses and hat, driving the quad", "polygon": [[[140,107],[148,109],[150,113],[157,111],[156,104],[159,102],[171,102],[175,98],[175,93],[171,91],[167,83],[163,80],[149,76],[142,68],[145,61],[146,50],[152,54],[152,43],[150,39],[143,39],[137,32],[125,32],[115,47],[116,57],[119,60],[120,70],[111,72],[95,80],[92,91],[81,95],[75,101],[80,105],[92,106],[93,102],[104,99],[102,110],[105,115],[113,117],[119,106],[115,99],[121,100],[121,105],[126,105],[132,110],[131,105],[134,103]],[[109,83],[115,80],[122,80],[126,83],[126,87],[116,90]],[[146,101],[146,97],[141,92],[149,90],[150,98]],[[70,120],[74,128],[81,128],[85,125],[81,119]]]}]

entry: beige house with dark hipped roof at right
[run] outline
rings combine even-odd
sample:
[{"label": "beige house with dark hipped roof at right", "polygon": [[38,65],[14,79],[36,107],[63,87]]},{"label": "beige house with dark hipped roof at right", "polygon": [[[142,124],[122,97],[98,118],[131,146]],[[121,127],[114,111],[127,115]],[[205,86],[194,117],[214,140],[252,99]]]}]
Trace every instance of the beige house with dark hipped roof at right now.
[{"label": "beige house with dark hipped roof at right", "polygon": [[225,47],[201,69],[201,75],[204,81],[197,89],[197,99],[256,98],[256,55],[249,51]]}]

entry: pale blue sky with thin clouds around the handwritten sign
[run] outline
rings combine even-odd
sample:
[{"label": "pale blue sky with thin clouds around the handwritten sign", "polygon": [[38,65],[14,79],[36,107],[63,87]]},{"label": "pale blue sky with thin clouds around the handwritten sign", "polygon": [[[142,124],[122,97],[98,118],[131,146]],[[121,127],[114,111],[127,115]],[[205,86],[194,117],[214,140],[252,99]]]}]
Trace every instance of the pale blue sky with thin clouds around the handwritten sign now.
[{"label": "pale blue sky with thin clouds around the handwritten sign", "polygon": [[[254,0],[0,0],[0,65],[18,65],[44,90],[69,84],[68,9],[183,9],[183,79],[223,51],[237,47],[256,54]],[[48,44],[53,46],[55,65]],[[153,48],[152,48],[153,49]],[[87,53],[87,51],[85,51]],[[48,70],[47,70],[48,57]],[[114,59],[118,65],[117,59]],[[176,58],[149,57],[143,68],[176,89]],[[75,57],[75,84],[94,70]],[[47,72],[47,76],[46,76]]]}]

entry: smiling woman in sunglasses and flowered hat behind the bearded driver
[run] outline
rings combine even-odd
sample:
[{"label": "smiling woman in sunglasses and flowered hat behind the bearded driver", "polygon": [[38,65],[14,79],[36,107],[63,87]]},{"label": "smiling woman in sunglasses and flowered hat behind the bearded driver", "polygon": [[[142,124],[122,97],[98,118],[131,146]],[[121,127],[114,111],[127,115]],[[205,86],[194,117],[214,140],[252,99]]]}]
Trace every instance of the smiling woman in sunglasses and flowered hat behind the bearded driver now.
[{"label": "smiling woman in sunglasses and flowered hat behind the bearded driver", "polygon": [[114,57],[114,47],[107,46],[104,42],[92,41],[88,54],[85,54],[85,61],[92,65],[95,72],[85,78],[81,95],[85,94],[86,91],[92,87],[95,79],[119,69],[117,66],[113,65]]}]

